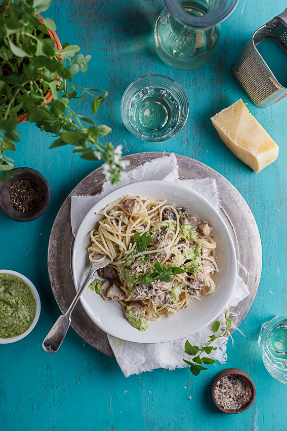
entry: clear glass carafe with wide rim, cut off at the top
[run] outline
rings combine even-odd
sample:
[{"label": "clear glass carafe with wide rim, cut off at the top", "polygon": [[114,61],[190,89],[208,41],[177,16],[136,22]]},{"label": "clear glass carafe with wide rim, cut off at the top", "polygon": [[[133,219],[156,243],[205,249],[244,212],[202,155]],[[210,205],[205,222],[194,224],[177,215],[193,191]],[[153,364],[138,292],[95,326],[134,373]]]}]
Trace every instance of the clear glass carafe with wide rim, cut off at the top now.
[{"label": "clear glass carafe with wide rim, cut off at the top", "polygon": [[163,62],[179,70],[197,69],[213,55],[220,22],[238,0],[163,0],[166,8],[154,29],[155,48]]}]

